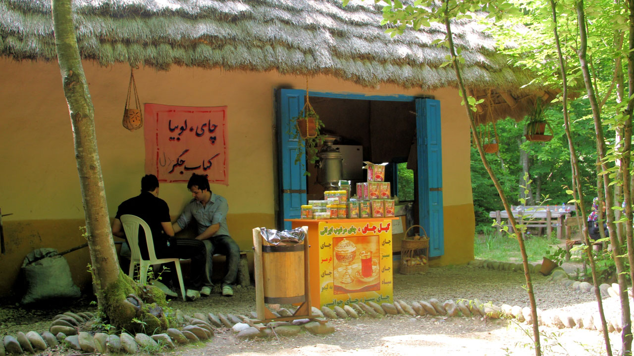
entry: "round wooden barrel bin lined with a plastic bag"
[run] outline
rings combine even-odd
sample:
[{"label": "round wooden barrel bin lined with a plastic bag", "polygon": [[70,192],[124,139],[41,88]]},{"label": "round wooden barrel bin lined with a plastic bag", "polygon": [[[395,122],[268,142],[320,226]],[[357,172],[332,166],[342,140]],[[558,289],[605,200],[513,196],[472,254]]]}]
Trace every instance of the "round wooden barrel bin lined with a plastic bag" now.
[{"label": "round wooden barrel bin lined with a plastic bag", "polygon": [[297,245],[271,245],[262,239],[264,303],[292,304],[306,300],[304,241]]}]

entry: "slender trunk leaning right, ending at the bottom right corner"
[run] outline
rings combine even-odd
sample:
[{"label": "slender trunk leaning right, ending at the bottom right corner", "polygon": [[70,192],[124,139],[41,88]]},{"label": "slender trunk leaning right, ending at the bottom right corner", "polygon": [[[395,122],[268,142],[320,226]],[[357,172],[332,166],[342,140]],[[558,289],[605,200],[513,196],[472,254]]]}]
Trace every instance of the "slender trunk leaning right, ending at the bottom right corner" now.
[{"label": "slender trunk leaning right, ending at the bottom right corner", "polygon": [[[631,1],[631,0],[630,0]],[[579,64],[581,65],[581,74],[583,75],[583,82],[586,86],[586,91],[588,94],[588,100],[590,101],[590,108],[592,108],[592,117],[594,119],[595,124],[595,139],[597,140],[597,151],[598,158],[600,160],[601,169],[607,171],[609,169],[607,162],[605,162],[605,155],[607,154],[607,149],[605,147],[605,139],[603,135],[603,127],[601,122],[601,117],[599,113],[597,96],[595,95],[594,88],[592,87],[592,77],[590,75],[590,70],[588,69],[588,61],[586,60],[586,52],[588,48],[588,34],[586,33],[586,20],[585,20],[585,11],[583,9],[583,0],[579,0],[576,2],[576,12],[577,12],[577,22],[579,26]],[[631,18],[632,15],[630,15]],[[631,24],[630,24],[631,25]],[[633,34],[630,34],[632,36]],[[630,53],[630,58],[631,58]],[[629,70],[632,70],[631,68]],[[631,83],[630,83],[631,84]],[[630,87],[631,89],[631,87]],[[631,103],[631,101],[630,101]],[[629,105],[628,105],[629,108]],[[614,264],[616,265],[617,272],[617,280],[619,283],[620,293],[619,298],[621,299],[621,323],[623,325],[623,332],[621,333],[622,340],[622,353],[623,355],[630,355],[631,353],[631,343],[632,343],[632,334],[631,334],[631,318],[630,318],[630,301],[628,299],[628,291],[627,291],[627,281],[624,276],[625,266],[623,262],[623,257],[621,257],[621,245],[619,244],[618,238],[616,236],[616,228],[614,227],[614,211],[611,209],[612,204],[612,186],[610,185],[609,175],[602,175],[605,189],[605,205],[608,207],[605,210],[605,215],[607,215],[607,229],[610,235],[610,241],[612,243],[612,258],[614,258]],[[602,203],[602,201],[600,201]],[[601,209],[599,209],[600,212]],[[599,229],[602,231],[602,229]]]}]

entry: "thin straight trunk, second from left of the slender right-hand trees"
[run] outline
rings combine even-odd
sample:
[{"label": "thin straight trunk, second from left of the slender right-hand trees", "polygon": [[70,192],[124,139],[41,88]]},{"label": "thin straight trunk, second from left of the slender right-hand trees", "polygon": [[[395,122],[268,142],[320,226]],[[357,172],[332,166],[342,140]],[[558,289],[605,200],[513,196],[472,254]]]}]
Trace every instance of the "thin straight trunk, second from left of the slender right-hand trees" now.
[{"label": "thin straight trunk, second from left of the slender right-hand trees", "polygon": [[[568,80],[566,77],[566,64],[564,63],[564,56],[561,51],[561,45],[559,41],[559,33],[557,32],[557,9],[555,6],[555,0],[550,0],[550,8],[553,15],[553,35],[555,37],[555,45],[557,46],[557,56],[559,58],[559,69],[562,77],[562,107],[564,108],[564,130],[566,130],[566,137],[568,138],[568,149],[570,150],[570,163],[573,170],[573,196],[579,197],[579,210],[581,212],[581,219],[586,221],[585,203],[583,201],[583,191],[581,185],[581,177],[579,176],[579,160],[573,144],[573,134],[570,130],[570,117],[568,116]],[[598,314],[601,318],[601,325],[603,326],[603,337],[605,341],[605,351],[608,356],[612,356],[612,346],[610,345],[610,335],[607,331],[607,322],[605,321],[605,313],[603,309],[603,300],[601,297],[601,291],[599,288],[599,281],[597,278],[597,266],[592,254],[592,243],[590,243],[590,236],[588,234],[588,224],[583,224],[583,241],[586,244],[585,253],[590,262],[590,271],[592,272],[592,282],[595,286],[595,298],[597,298]]]}]

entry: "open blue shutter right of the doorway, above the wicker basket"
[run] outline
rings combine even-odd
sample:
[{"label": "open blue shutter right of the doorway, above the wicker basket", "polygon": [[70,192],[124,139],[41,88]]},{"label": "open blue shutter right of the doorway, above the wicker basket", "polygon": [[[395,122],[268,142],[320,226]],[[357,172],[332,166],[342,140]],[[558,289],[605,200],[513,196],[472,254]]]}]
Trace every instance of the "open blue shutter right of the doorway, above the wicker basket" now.
[{"label": "open blue shutter right of the doorway, above the wicker basket", "polygon": [[416,99],[418,219],[429,235],[429,256],[444,254],[440,101]]}]

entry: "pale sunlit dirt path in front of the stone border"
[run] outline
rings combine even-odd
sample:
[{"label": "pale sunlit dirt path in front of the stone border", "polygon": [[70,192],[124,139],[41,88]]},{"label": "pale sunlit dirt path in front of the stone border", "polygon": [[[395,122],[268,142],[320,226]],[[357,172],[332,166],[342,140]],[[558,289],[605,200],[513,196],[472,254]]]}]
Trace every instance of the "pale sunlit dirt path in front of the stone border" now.
[{"label": "pale sunlit dirt path in front of the stone border", "polygon": [[[236,341],[233,332],[224,331],[212,343],[179,348],[169,355],[534,355],[526,334],[532,330],[507,321],[398,315],[332,323],[334,334],[300,334],[279,341]],[[548,345],[545,355],[605,355],[597,331],[545,327],[541,331],[545,335],[541,342]]]}]

